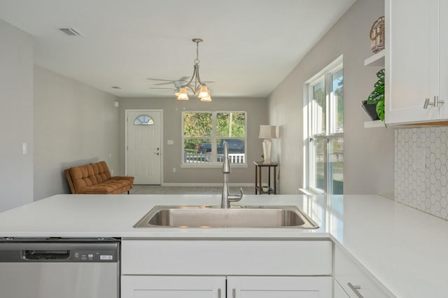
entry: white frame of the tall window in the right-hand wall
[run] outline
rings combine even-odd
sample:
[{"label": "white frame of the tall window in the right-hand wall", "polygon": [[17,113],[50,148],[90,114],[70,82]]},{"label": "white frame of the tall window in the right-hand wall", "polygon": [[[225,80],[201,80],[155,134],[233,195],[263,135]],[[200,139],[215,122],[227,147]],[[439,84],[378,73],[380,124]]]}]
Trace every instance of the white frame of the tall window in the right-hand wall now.
[{"label": "white frame of the tall window in the right-hand wall", "polygon": [[[332,101],[332,76],[338,71],[344,72],[344,59],[343,56],[339,56],[335,61],[330,63],[325,69],[319,71],[315,76],[307,80],[304,83],[304,188],[315,194],[332,194],[333,185],[332,180],[329,179],[329,162],[330,155],[329,149],[332,141],[340,140],[344,141],[344,125],[342,125],[342,132],[337,132],[337,121],[332,122],[334,116],[337,117],[337,113],[332,115],[332,111],[337,111],[337,102]],[[344,78],[344,76],[342,76]],[[314,101],[314,86],[318,83],[324,82],[325,88],[325,131],[320,134],[314,134],[313,123],[316,122],[313,117],[313,101]],[[335,107],[333,105],[336,104]],[[336,108],[336,110],[334,110]],[[336,123],[336,127],[332,132],[332,125]],[[342,122],[344,123],[344,121]],[[316,177],[314,171],[315,155],[314,144],[316,141],[323,141],[323,180],[324,188],[320,189],[316,185],[312,185],[312,180]]]}]

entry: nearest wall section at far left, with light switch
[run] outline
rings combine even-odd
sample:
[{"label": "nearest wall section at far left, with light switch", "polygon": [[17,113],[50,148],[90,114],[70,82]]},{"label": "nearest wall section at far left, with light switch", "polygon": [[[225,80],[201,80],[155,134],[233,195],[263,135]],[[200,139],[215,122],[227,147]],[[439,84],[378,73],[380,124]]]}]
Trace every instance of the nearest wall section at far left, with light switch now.
[{"label": "nearest wall section at far left, with light switch", "polygon": [[[0,20],[0,211],[33,201],[32,37]],[[22,154],[27,143],[27,154]]]}]

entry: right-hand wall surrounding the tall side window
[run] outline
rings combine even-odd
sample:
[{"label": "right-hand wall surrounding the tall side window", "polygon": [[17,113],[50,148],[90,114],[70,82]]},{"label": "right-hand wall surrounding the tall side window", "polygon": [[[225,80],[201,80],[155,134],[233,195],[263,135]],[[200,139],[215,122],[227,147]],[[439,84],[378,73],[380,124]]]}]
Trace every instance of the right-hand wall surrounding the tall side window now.
[{"label": "right-hand wall surrounding the tall side window", "polygon": [[381,69],[365,67],[364,59],[373,54],[370,28],[382,15],[383,0],[356,1],[269,96],[269,121],[280,129],[274,154],[279,156],[282,194],[302,187],[304,82],[344,55],[344,193],[393,198],[393,129],[364,129],[369,119],[360,108]]}]

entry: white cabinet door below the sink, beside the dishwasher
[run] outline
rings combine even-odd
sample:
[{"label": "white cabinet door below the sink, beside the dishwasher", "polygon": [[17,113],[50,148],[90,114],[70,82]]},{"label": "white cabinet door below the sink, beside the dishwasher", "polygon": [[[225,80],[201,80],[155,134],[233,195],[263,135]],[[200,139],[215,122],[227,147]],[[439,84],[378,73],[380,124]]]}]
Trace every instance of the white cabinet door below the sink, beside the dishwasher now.
[{"label": "white cabinet door below the sink, beside the dishwasher", "polygon": [[224,276],[122,276],[121,298],[225,298]]}]

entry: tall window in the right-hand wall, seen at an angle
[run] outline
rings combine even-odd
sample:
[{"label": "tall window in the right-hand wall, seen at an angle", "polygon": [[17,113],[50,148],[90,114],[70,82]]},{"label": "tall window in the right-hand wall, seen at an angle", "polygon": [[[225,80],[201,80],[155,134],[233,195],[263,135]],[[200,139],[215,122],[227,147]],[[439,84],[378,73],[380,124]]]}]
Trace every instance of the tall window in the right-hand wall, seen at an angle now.
[{"label": "tall window in the right-hand wall, seen at an angle", "polygon": [[342,57],[307,83],[305,185],[326,194],[344,193],[344,71]]}]

